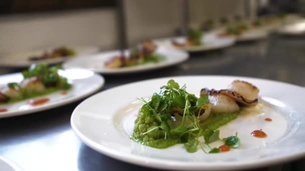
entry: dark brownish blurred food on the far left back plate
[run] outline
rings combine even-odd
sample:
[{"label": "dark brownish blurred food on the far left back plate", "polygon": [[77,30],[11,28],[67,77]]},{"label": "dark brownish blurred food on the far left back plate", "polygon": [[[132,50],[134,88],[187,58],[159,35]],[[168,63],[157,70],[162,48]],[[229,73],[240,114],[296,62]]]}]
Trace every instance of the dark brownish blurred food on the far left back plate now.
[{"label": "dark brownish blurred food on the far left back plate", "polygon": [[75,55],[76,55],[76,51],[73,48],[70,48],[67,46],[60,46],[55,49],[52,49],[51,51],[45,51],[44,53],[42,53],[40,55],[29,56],[29,60],[37,61],[37,60],[43,60],[43,59],[69,57],[69,56],[75,56]]}]

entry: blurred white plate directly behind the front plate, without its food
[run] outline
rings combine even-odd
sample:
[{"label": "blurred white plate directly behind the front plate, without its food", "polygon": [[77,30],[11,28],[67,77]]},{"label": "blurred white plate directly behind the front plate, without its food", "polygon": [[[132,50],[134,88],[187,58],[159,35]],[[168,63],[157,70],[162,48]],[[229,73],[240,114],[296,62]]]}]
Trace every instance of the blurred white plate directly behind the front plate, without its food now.
[{"label": "blurred white plate directly behind the front plate, without its food", "polygon": [[[125,55],[129,55],[129,50],[125,50]],[[158,68],[163,68],[171,65],[181,63],[189,58],[189,54],[184,51],[166,49],[163,47],[158,47],[157,53],[164,55],[166,60],[159,63],[147,63],[143,65],[121,67],[121,68],[106,68],[104,63],[110,60],[113,56],[120,55],[119,50],[106,51],[97,53],[95,55],[87,56],[86,58],[74,58],[66,61],[63,64],[64,68],[78,67],[93,70],[95,72],[103,74],[116,74],[116,73],[131,73],[146,70],[153,70]]]}]

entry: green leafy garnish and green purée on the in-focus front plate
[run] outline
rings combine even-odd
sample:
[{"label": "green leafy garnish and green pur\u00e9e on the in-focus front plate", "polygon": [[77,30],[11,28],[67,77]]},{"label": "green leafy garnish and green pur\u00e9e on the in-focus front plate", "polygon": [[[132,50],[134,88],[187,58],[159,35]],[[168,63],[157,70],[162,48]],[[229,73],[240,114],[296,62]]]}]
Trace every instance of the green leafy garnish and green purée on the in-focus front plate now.
[{"label": "green leafy garnish and green pur\u00e9e on the in-focus front plate", "polygon": [[[200,120],[201,111],[211,107],[209,98],[199,98],[186,91],[186,86],[170,79],[154,93],[149,100],[139,99],[144,104],[134,121],[131,139],[144,145],[165,148],[183,143],[188,152],[196,152],[198,146],[204,151],[209,143],[220,140],[219,130],[223,124],[237,117],[238,113],[212,114],[207,120]],[[205,139],[205,144],[199,138]],[[210,153],[219,152],[217,148]]]}]

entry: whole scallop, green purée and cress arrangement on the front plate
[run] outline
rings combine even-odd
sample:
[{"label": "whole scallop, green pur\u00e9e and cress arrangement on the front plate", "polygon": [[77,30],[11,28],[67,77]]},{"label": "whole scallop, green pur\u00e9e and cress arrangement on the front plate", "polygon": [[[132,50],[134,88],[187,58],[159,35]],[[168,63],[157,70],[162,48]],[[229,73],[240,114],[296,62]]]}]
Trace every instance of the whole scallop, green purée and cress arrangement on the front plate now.
[{"label": "whole scallop, green pur\u00e9e and cress arrangement on the front plate", "polygon": [[[186,85],[180,86],[170,79],[167,85],[161,86],[160,93],[155,92],[149,100],[140,99],[144,104],[138,111],[130,138],[156,148],[183,143],[188,152],[196,152],[199,147],[205,153],[229,151],[240,144],[237,132],[220,138],[218,128],[238,116],[240,105],[255,106],[258,92],[251,83],[234,80],[228,89],[203,88],[198,98],[186,91]],[[258,132],[264,133],[254,130],[253,136]],[[212,148],[209,144],[214,141],[223,144]]]}]

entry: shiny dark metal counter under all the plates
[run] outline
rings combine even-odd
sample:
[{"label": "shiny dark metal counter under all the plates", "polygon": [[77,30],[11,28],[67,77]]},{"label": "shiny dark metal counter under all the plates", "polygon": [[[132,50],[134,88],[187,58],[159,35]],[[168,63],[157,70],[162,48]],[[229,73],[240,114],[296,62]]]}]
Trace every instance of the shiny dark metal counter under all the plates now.
[{"label": "shiny dark metal counter under all the plates", "polygon": [[[271,36],[239,43],[222,51],[192,54],[177,66],[155,71],[105,76],[105,90],[124,83],[174,75],[241,75],[275,79],[305,86],[305,39]],[[0,69],[0,73],[16,70]],[[55,109],[0,119],[0,155],[27,171],[41,170],[156,170],[118,161],[84,145],[70,126],[77,101]],[[304,159],[258,168],[303,170]],[[252,169],[257,170],[257,169]]]}]

